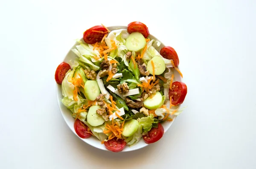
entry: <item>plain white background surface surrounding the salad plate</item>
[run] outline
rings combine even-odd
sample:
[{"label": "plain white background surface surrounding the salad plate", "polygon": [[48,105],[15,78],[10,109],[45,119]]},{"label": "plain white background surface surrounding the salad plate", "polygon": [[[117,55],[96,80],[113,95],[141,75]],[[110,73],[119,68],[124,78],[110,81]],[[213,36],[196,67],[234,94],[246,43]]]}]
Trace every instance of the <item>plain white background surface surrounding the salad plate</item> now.
[{"label": "plain white background surface surrounding the salad plate", "polygon": [[[0,2],[1,169],[255,169],[255,0]],[[177,51],[186,110],[155,144],[96,149],[58,109],[54,73],[83,32],[145,23]]]}]

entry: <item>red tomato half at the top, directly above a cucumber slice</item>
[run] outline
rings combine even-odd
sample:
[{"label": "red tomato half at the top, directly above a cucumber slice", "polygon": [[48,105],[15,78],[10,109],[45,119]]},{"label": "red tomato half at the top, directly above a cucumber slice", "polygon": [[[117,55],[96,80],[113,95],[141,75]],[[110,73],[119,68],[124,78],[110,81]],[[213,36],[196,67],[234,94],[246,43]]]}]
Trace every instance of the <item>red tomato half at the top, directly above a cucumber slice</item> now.
[{"label": "red tomato half at the top, directly above a cucumber slice", "polygon": [[141,22],[129,23],[127,31],[129,32],[129,34],[133,32],[140,32],[145,38],[147,38],[149,35],[148,27]]}]

